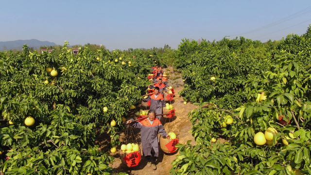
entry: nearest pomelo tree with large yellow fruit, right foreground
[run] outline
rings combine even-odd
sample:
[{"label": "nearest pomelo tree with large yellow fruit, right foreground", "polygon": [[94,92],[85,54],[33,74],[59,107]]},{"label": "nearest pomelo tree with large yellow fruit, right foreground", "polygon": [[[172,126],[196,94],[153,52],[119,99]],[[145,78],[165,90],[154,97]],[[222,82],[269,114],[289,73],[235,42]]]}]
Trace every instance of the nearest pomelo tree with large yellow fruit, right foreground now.
[{"label": "nearest pomelo tree with large yellow fruit, right foreground", "polygon": [[176,145],[180,155],[171,174],[311,174],[310,33],[267,43],[273,56],[242,82],[243,104],[226,109],[203,98],[194,103],[199,107],[188,116],[196,144]]}]

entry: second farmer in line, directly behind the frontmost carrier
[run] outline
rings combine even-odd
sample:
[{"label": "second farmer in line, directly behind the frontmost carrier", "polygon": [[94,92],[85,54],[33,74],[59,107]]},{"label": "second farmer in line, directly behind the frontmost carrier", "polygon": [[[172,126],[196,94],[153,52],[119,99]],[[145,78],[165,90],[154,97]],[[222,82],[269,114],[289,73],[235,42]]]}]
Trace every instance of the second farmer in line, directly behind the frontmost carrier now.
[{"label": "second farmer in line, directly behind the frontmost carrier", "polygon": [[[155,114],[163,114],[163,108],[165,107],[165,101],[163,95],[159,93],[159,87],[155,87],[155,93],[147,98],[143,99],[143,102],[150,101],[150,110],[154,110]],[[156,116],[158,120],[161,120],[162,116]]]}]

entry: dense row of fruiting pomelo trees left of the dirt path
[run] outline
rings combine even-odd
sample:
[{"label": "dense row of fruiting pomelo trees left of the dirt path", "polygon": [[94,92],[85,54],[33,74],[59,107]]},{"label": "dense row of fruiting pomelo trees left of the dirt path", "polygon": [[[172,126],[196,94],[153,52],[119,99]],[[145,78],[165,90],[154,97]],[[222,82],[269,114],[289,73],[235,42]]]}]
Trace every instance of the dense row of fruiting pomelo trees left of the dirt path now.
[{"label": "dense row of fruiting pomelo trees left of the dirt path", "polygon": [[0,53],[0,170],[5,174],[113,173],[108,166],[113,157],[95,144],[96,130],[111,135],[111,147],[120,144],[121,117],[145,93],[154,62],[140,50],[133,51],[135,58],[104,48],[74,55],[67,45],[57,58],[27,46],[20,53]]}]

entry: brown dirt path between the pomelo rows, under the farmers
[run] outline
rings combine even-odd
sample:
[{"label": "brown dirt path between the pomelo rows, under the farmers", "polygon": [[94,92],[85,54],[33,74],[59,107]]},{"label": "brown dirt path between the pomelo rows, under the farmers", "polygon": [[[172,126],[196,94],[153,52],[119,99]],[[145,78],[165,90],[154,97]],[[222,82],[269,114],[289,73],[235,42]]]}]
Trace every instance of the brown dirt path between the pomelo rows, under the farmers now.
[{"label": "brown dirt path between the pomelo rows, under the farmers", "polygon": [[[172,75],[172,69],[170,69],[171,71],[168,72],[168,74]],[[168,71],[168,70],[165,70]],[[191,136],[191,133],[189,133],[190,129],[191,129],[191,123],[190,123],[190,119],[188,118],[188,113],[194,109],[197,108],[196,105],[192,105],[190,103],[187,103],[187,105],[184,105],[183,102],[183,98],[179,97],[178,92],[180,90],[182,90],[183,88],[183,81],[181,78],[181,75],[174,75],[175,80],[173,80],[173,76],[170,77],[170,79],[172,79],[172,81],[169,82],[169,86],[172,86],[174,88],[175,91],[175,96],[173,98],[174,103],[173,103],[173,107],[175,109],[175,117],[173,117],[173,122],[170,123],[165,123],[165,118],[162,118],[163,120],[161,120],[162,123],[164,124],[164,128],[167,132],[174,132],[178,139],[179,139],[179,143],[186,143],[188,140],[192,140],[192,144],[195,144],[194,138]],[[178,78],[178,79],[176,79]],[[139,108],[145,109],[145,107],[143,106],[138,106],[138,110]],[[134,113],[133,112],[130,116],[127,117],[127,119],[129,118],[134,118]],[[168,122],[168,120],[167,120]],[[136,136],[136,139],[138,141],[138,143],[140,143],[140,132],[139,129],[136,128],[132,128],[134,131],[134,134]],[[120,131],[120,140],[121,142],[123,140],[125,140],[125,135],[124,135],[125,129]],[[105,137],[104,135],[100,135],[98,138],[101,137]],[[100,139],[97,139],[100,140]],[[132,140],[132,138],[127,138],[127,140]],[[132,142],[132,141],[131,141]],[[135,142],[135,139],[134,139]],[[105,145],[107,143],[104,142],[98,142],[98,144],[100,145]],[[122,143],[121,143],[122,144]],[[141,146],[141,144],[140,144]],[[105,149],[104,147],[101,147],[101,149]],[[106,148],[107,149],[107,148]],[[119,154],[119,150],[120,150],[120,145],[117,146],[117,152],[114,154],[111,154],[111,156],[115,157],[115,161],[114,163],[111,165],[111,167],[113,169],[115,169],[115,172],[126,172],[129,175],[169,175],[170,170],[172,168],[172,161],[175,159],[176,155],[178,155],[179,153],[172,153],[172,154],[167,154],[167,153],[163,153],[163,151],[160,148],[159,145],[159,157],[158,160],[156,161],[156,167],[157,170],[152,170],[152,168],[149,168],[146,166],[147,161],[145,159],[145,157],[142,156],[141,161],[139,163],[138,166],[133,167],[133,168],[128,168],[126,165],[121,163],[121,159],[120,159],[120,154]]]}]

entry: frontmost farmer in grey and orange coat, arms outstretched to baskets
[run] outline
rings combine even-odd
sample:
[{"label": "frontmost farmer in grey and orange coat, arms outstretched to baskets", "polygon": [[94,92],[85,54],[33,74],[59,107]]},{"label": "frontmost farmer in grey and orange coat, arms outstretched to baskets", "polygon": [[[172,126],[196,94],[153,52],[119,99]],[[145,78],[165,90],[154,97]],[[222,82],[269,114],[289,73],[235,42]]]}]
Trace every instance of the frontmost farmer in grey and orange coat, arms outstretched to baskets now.
[{"label": "frontmost farmer in grey and orange coat, arms outstretched to baskets", "polygon": [[142,151],[148,161],[147,166],[156,170],[155,160],[159,155],[157,134],[160,133],[162,137],[168,139],[170,136],[166,133],[161,122],[155,118],[155,111],[152,109],[148,112],[148,118],[133,121],[134,119],[130,119],[126,124],[130,123],[131,126],[140,128]]}]

